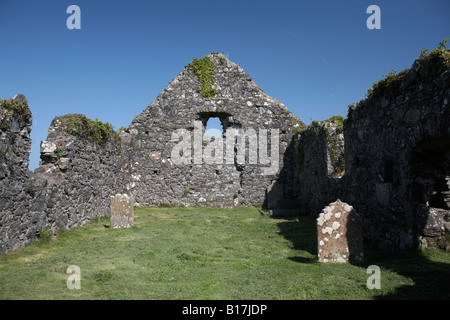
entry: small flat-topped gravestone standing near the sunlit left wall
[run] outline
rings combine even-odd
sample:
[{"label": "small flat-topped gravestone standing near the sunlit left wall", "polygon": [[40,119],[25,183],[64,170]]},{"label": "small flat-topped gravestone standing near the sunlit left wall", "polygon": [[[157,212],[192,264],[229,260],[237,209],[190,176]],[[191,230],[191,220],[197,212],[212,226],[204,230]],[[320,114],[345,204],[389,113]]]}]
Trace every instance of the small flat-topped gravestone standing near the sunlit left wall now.
[{"label": "small flat-topped gravestone standing near the sunlit left wall", "polygon": [[134,201],[126,194],[110,197],[111,228],[130,228],[134,223]]}]

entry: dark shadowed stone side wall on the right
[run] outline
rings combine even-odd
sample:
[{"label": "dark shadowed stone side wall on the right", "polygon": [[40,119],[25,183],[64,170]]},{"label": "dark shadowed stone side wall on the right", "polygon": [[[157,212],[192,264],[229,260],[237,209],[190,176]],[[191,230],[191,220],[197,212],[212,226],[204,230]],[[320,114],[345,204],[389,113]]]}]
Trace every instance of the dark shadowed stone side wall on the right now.
[{"label": "dark shadowed stone side wall on the right", "polygon": [[[450,70],[433,59],[390,77],[349,111],[345,120],[345,174],[327,170],[322,138],[309,128],[299,199],[318,214],[341,199],[364,217],[368,241],[406,253],[422,243],[446,246],[450,192]],[[333,199],[334,198],[334,199]]]}]

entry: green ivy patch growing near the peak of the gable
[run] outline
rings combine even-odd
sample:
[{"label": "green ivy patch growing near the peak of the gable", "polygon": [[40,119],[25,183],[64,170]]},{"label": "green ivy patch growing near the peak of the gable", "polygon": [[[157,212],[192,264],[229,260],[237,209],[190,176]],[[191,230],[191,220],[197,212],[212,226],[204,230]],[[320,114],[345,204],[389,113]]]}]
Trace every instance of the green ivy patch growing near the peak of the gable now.
[{"label": "green ivy patch growing near the peak of the gable", "polygon": [[202,59],[194,58],[189,64],[190,70],[194,72],[200,87],[198,91],[202,98],[214,98],[216,96],[216,89],[214,85],[214,62],[209,56],[204,56]]}]

